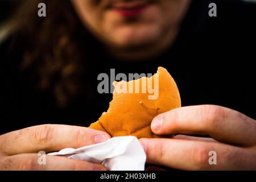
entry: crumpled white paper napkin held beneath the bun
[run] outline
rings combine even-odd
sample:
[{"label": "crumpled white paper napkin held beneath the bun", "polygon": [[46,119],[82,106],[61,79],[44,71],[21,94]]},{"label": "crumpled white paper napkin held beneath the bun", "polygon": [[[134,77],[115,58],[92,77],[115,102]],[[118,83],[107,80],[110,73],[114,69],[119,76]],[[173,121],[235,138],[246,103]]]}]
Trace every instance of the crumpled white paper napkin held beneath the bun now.
[{"label": "crumpled white paper napkin held beneath the bun", "polygon": [[67,156],[71,159],[101,163],[111,171],[144,171],[146,154],[133,136],[114,137],[106,142],[81,148],[64,148],[48,155]]}]

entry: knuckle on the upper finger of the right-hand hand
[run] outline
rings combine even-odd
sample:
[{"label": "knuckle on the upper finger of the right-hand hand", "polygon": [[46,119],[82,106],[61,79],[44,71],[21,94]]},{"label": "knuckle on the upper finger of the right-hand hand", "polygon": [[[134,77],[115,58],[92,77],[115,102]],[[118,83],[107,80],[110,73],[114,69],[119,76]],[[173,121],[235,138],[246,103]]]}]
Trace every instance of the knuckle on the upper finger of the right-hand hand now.
[{"label": "knuckle on the upper finger of the right-hand hand", "polygon": [[205,107],[205,110],[207,115],[205,116],[204,125],[206,126],[216,126],[226,117],[223,107],[209,105]]}]

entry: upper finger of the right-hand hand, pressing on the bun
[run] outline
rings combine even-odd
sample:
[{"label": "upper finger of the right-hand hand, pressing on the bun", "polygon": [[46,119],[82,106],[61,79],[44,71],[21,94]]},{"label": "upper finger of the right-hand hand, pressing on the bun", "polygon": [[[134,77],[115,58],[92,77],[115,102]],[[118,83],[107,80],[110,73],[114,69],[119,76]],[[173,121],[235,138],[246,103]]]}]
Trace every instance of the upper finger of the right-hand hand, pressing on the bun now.
[{"label": "upper finger of the right-hand hand, pressing on the bun", "polygon": [[188,106],[168,111],[153,119],[151,130],[158,135],[207,134],[220,142],[256,144],[255,120],[221,106]]}]

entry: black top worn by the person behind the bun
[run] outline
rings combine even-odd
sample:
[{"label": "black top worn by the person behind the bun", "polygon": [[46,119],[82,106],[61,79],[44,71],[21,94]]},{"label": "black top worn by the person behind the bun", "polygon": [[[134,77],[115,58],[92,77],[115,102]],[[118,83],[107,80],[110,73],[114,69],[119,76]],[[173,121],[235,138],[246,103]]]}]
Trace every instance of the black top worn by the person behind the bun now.
[{"label": "black top worn by the person behind the bun", "polygon": [[[217,4],[217,17],[208,15],[211,2]],[[255,18],[254,3],[195,0],[176,42],[154,59],[126,63],[94,50],[92,60],[86,60],[90,77],[84,79],[94,88],[92,96],[77,97],[65,109],[50,92],[35,91],[30,75],[19,70],[19,51],[6,54],[7,41],[0,48],[0,134],[44,123],[88,126],[97,121],[112,100],[111,93],[97,92],[97,76],[110,75],[110,68],[115,73],[155,73],[162,66],[174,77],[183,106],[221,105],[255,119]]]}]

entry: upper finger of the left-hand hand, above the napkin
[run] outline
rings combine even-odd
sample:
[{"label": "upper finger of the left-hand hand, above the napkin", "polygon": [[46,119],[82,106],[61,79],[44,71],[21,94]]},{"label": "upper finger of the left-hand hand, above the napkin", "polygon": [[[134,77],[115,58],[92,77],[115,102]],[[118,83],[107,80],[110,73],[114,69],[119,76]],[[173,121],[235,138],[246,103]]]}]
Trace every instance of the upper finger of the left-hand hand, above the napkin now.
[{"label": "upper finger of the left-hand hand, above the napkin", "polygon": [[104,142],[110,137],[103,131],[68,125],[39,125],[0,136],[1,150],[8,155],[38,151],[59,151]]}]

